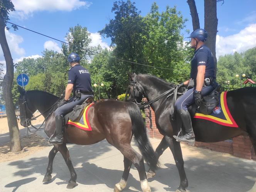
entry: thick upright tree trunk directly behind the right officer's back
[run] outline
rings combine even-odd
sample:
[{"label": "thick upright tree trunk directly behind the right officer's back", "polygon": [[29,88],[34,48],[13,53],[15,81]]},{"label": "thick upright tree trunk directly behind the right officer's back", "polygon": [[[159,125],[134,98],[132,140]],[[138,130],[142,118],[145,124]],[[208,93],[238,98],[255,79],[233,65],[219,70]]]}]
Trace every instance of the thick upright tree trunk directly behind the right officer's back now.
[{"label": "thick upright tree trunk directly behind the right officer's back", "polygon": [[217,58],[216,58],[216,35],[217,35],[217,1],[204,0],[204,29],[208,33],[207,41],[205,44],[212,51],[215,71],[217,71]]}]

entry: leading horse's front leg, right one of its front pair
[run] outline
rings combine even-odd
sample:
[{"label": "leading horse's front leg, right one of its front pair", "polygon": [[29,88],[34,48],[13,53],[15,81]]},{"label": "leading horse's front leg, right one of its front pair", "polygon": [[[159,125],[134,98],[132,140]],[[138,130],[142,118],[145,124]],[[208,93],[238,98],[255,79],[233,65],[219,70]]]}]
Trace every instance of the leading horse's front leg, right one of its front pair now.
[{"label": "leading horse's front leg, right one of its front pair", "polygon": [[70,172],[70,175],[71,175],[71,178],[69,180],[69,183],[67,184],[67,189],[72,189],[74,187],[76,187],[76,172],[74,170],[74,167],[72,165],[72,162],[71,162],[71,158],[69,156],[69,150],[67,149],[67,146],[66,144],[61,144],[61,145],[58,145],[58,148],[59,148],[59,152],[61,152],[61,155],[62,157],[64,158],[66,164],[67,164],[67,167],[69,168],[69,172]]}]

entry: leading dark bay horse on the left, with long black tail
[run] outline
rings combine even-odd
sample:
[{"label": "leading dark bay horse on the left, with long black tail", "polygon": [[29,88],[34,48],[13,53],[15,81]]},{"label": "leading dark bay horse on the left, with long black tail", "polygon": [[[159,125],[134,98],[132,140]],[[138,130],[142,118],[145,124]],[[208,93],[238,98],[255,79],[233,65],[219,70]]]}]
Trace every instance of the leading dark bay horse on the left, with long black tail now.
[{"label": "leading dark bay horse on the left, with long black tail", "polygon": [[[43,91],[25,91],[19,87],[20,97],[20,124],[22,126],[31,125],[33,113],[38,109],[46,118],[49,116],[49,108],[59,99],[56,96]],[[108,143],[116,147],[124,156],[124,172],[119,183],[115,185],[114,192],[120,192],[126,187],[126,182],[133,163],[138,170],[143,192],[150,192],[147,176],[145,172],[144,160],[150,166],[157,166],[158,160],[154,150],[148,141],[144,122],[138,106],[131,102],[105,101],[93,104],[88,111],[89,123],[92,131],[84,131],[73,125],[66,125],[64,131],[64,143],[54,144],[49,153],[49,163],[43,182],[51,180],[52,163],[57,152],[61,152],[67,167],[69,168],[71,179],[67,188],[71,189],[76,184],[76,172],[69,157],[67,143],[77,145],[91,145],[106,139]],[[27,123],[26,123],[27,122]],[[45,133],[51,137],[55,131],[55,118],[52,113],[45,122]],[[135,136],[135,142],[140,149],[142,156],[131,147],[131,138]]]}]

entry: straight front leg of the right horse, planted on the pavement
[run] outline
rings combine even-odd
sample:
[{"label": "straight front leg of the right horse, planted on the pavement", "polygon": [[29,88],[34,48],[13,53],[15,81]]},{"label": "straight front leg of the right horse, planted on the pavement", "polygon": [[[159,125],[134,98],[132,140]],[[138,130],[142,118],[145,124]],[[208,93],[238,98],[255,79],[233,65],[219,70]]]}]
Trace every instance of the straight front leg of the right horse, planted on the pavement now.
[{"label": "straight front leg of the right horse, planted on the pavement", "polygon": [[187,176],[184,170],[184,161],[180,148],[180,142],[177,142],[175,139],[172,139],[169,136],[165,136],[165,140],[167,141],[169,148],[172,151],[172,155],[180,175],[180,186],[178,187],[176,192],[186,192],[186,188],[188,187],[189,183],[187,181]]}]

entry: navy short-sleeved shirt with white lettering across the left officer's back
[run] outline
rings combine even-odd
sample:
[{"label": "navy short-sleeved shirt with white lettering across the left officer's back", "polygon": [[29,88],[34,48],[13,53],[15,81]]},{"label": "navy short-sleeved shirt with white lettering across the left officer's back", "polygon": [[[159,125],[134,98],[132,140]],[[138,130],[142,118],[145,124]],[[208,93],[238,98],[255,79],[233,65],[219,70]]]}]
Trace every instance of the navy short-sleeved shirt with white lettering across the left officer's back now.
[{"label": "navy short-sleeved shirt with white lettering across the left officer's back", "polygon": [[91,76],[87,69],[84,69],[80,64],[76,64],[69,69],[67,84],[69,83],[73,84],[73,92],[81,90],[83,92],[93,93]]}]

